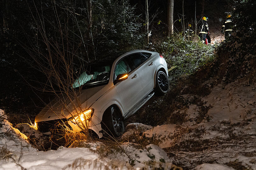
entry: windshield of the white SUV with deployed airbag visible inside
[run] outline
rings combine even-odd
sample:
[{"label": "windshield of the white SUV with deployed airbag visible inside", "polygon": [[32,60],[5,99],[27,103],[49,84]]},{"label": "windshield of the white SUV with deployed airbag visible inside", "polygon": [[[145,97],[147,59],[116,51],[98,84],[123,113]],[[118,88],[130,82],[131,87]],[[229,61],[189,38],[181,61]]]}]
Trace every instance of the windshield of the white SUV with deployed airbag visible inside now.
[{"label": "windshield of the white SUV with deployed airbag visible inside", "polygon": [[112,63],[105,61],[88,65],[86,71],[82,72],[74,81],[72,87],[91,88],[108,83]]}]

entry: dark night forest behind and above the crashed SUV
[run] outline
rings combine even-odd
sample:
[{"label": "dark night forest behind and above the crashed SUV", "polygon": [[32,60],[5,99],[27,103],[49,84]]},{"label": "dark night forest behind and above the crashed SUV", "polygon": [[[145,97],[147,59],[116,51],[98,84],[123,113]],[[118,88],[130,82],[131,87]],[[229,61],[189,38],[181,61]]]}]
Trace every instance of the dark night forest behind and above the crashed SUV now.
[{"label": "dark night forest behind and above the crashed SUV", "polygon": [[[173,36],[184,36],[188,23],[195,30],[195,20],[202,16],[209,18],[210,31],[220,34],[225,12],[233,11],[241,2],[247,4],[242,9],[254,4],[174,0]],[[42,69],[48,67],[49,58],[64,74],[61,57],[73,63],[75,72],[118,51],[147,50],[150,44],[168,38],[168,1],[148,1],[149,43],[145,9],[144,0],[1,0],[0,108],[14,115],[14,122],[20,122],[20,115],[39,112],[51,98],[46,88],[51,72]]]}]

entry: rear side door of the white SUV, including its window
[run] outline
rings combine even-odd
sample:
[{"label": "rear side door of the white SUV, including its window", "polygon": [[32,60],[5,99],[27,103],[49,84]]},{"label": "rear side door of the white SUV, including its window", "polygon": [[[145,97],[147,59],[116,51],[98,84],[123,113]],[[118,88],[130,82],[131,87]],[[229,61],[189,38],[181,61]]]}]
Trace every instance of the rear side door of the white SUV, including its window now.
[{"label": "rear side door of the white SUV, including its window", "polygon": [[156,64],[152,57],[149,56],[149,58],[147,58],[141,53],[130,55],[129,60],[129,62],[134,65],[135,70],[139,74],[140,82],[144,92],[141,96],[141,98],[143,98],[154,88],[154,72]]}]

